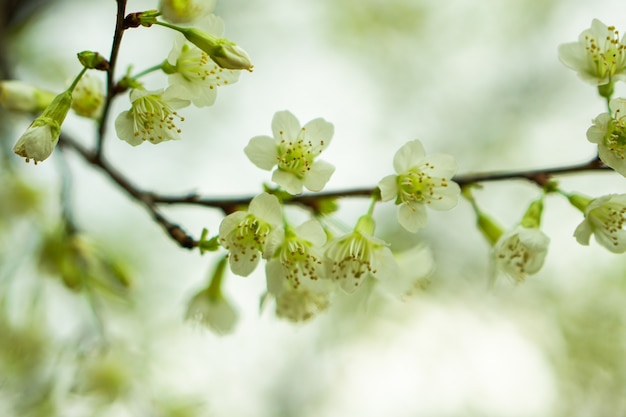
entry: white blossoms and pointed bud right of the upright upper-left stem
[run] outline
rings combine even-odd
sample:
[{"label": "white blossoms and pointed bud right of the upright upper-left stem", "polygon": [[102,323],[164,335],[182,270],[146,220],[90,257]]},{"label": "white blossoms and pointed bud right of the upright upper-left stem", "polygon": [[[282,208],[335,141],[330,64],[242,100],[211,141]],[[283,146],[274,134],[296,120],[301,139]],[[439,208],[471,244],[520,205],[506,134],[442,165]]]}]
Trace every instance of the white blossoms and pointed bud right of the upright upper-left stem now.
[{"label": "white blossoms and pointed bud right of the upright upper-left stem", "polygon": [[[188,13],[189,8],[180,8],[178,3],[163,1],[161,14],[177,23],[189,23],[188,19],[197,18],[197,15]],[[192,6],[189,7],[193,9]],[[158,66],[168,75],[168,87],[147,90],[136,78],[130,82],[131,108],[117,117],[115,129],[120,139],[133,146],[179,139],[181,129],[178,122],[184,121],[184,117],[177,110],[190,104],[196,107],[213,105],[218,87],[237,82],[240,70],[252,69],[247,54],[220,37],[224,24],[217,16],[208,15],[197,22],[203,28],[199,30],[158,21],[157,15],[159,13],[146,12],[139,19],[145,18],[143,25],[159,24],[179,33],[168,58]],[[225,49],[224,43],[231,45],[230,49]]]}]

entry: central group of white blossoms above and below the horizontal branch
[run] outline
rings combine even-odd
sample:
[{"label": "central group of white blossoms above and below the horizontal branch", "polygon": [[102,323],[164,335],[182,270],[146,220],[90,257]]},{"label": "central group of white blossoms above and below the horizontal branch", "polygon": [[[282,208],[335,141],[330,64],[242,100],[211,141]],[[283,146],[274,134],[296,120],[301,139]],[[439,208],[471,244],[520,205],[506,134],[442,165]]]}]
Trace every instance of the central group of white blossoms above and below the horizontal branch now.
[{"label": "central group of white blossoms above and below the horizontal branch", "polygon": [[[272,180],[290,195],[303,188],[321,191],[335,170],[318,159],[331,142],[333,125],[315,119],[302,126],[293,114],[281,111],[272,120],[272,134],[250,139],[245,148],[250,161],[273,170]],[[398,219],[407,230],[426,225],[424,207],[446,210],[456,205],[460,188],[451,181],[456,170],[451,156],[427,156],[415,140],[396,153],[394,168],[396,174],[380,182],[380,195],[400,206]],[[276,299],[278,316],[306,320],[324,310],[340,289],[353,293],[371,277],[397,279],[389,244],[375,236],[374,203],[352,230],[335,235],[323,218],[291,225],[277,195],[262,193],[247,210],[226,216],[219,241],[237,275],[248,276],[265,260],[267,292]]]}]

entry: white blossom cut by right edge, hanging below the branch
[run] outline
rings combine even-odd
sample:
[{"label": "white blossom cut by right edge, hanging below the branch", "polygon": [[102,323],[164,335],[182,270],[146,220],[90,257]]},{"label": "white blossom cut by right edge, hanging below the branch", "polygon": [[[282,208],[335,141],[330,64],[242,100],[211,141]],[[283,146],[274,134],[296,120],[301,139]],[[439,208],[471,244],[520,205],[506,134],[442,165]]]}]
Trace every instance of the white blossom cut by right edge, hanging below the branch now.
[{"label": "white blossom cut by right edge, hanging below the branch", "polygon": [[593,234],[596,241],[614,253],[626,252],[626,194],[611,194],[592,200],[584,210],[585,220],[574,236],[581,245],[589,245]]}]

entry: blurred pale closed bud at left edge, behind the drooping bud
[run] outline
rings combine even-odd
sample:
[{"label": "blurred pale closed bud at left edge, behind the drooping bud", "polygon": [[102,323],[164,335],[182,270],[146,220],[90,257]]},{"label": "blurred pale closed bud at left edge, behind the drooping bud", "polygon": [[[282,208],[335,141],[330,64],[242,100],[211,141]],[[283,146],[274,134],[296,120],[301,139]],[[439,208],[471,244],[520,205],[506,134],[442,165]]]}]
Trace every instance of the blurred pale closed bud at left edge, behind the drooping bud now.
[{"label": "blurred pale closed bud at left edge, behind the drooping bud", "polygon": [[54,93],[15,80],[0,81],[0,105],[7,110],[38,113],[54,100]]}]

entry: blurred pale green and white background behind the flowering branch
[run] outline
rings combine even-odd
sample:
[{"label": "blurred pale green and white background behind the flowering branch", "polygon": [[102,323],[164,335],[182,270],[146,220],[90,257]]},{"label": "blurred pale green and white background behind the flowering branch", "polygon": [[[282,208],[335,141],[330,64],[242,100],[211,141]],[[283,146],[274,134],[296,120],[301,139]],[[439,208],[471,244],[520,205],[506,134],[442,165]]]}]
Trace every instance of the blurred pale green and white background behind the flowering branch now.
[{"label": "blurred pale green and white background behind the flowering branch", "polygon": [[[129,12],[157,7],[128,3]],[[110,118],[105,155],[144,189],[256,195],[270,174],[243,149],[270,132],[275,112],[289,110],[301,121],[334,124],[324,159],[336,171],[326,190],[375,186],[414,139],[453,155],[459,173],[578,163],[596,151],[585,132],[606,104],[559,62],[557,48],[593,18],[623,33],[624,12],[617,0],[218,1],[214,13],[254,72],[220,90],[213,107],[186,109],[180,141],[130,147]],[[76,52],[108,55],[114,19],[112,0],[24,2],[0,52],[15,78],[62,91],[80,69]],[[118,76],[131,64],[139,71],[162,62],[170,35],[161,27],[127,31]],[[144,81],[159,88],[164,79]],[[111,114],[128,107],[120,97]],[[73,214],[85,236],[67,243],[54,227],[67,185],[57,174],[62,164],[24,164],[9,150],[30,119],[2,111],[0,120],[0,415],[626,413],[626,260],[595,242],[580,246],[573,232],[581,214],[563,198],[546,198],[548,255],[522,284],[501,276],[487,290],[490,248],[467,202],[430,211],[416,235],[397,225],[395,207],[380,205],[379,234],[394,250],[418,245],[434,258],[420,252],[409,264],[425,279],[408,295],[364,286],[293,324],[275,316],[271,301],[259,308],[263,268],[246,278],[228,274],[224,297],[239,321],[220,336],[184,320],[216,255],[177,247],[71,151],[55,157],[72,169]],[[93,143],[88,121],[68,118],[63,128]],[[3,168],[14,160],[15,169]],[[621,192],[624,178],[559,180],[596,197]],[[474,194],[512,227],[539,190],[509,181]],[[340,204],[339,218],[353,224],[369,201]],[[216,232],[222,218],[194,207],[164,212],[194,235]],[[85,269],[58,259],[78,259]],[[75,278],[84,274],[99,277],[99,286],[81,286]]]}]

